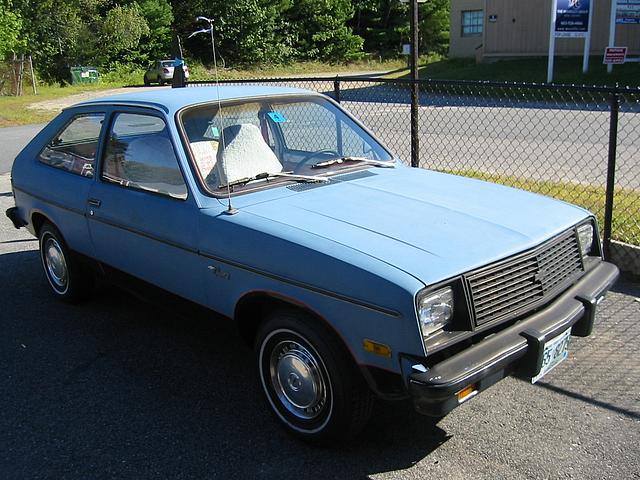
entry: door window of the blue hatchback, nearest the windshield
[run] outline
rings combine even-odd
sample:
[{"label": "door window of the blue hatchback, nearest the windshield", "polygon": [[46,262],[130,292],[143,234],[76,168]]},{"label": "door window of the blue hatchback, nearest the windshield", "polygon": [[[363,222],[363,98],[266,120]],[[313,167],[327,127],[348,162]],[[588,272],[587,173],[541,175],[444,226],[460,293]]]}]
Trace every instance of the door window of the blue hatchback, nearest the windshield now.
[{"label": "door window of the blue hatchback, nearest the windshield", "polygon": [[152,115],[116,115],[105,147],[101,178],[123,187],[187,198],[167,126]]}]

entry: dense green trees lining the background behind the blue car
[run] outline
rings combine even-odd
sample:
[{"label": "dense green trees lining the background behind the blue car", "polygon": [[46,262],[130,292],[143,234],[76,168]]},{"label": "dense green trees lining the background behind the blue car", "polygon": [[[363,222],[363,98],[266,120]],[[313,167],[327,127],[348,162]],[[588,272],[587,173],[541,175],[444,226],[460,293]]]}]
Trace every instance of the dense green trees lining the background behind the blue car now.
[{"label": "dense green trees lining the background behind the blue car", "polygon": [[[448,0],[422,4],[421,50],[444,52]],[[214,20],[221,63],[229,66],[341,63],[364,51],[397,56],[409,41],[408,7],[398,0],[0,0],[0,54],[31,53],[42,78],[66,81],[69,67],[145,66],[178,54],[212,63],[202,15]]]}]

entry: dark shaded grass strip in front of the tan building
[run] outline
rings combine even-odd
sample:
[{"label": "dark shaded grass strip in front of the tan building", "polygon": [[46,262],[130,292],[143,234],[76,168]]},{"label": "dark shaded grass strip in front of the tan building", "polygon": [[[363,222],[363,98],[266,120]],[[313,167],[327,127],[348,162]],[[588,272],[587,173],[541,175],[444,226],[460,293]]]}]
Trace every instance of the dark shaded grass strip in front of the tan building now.
[{"label": "dark shaded grass strip in front of the tan building", "polygon": [[[473,59],[432,61],[419,69],[420,78],[446,80],[490,80],[500,82],[536,82],[547,79],[547,59],[529,58],[501,60],[476,64]],[[390,75],[391,78],[409,78],[408,70]],[[591,57],[589,72],[582,73],[582,58],[556,58],[554,83],[581,85],[640,86],[640,63],[616,65],[607,73],[601,57]]]}]

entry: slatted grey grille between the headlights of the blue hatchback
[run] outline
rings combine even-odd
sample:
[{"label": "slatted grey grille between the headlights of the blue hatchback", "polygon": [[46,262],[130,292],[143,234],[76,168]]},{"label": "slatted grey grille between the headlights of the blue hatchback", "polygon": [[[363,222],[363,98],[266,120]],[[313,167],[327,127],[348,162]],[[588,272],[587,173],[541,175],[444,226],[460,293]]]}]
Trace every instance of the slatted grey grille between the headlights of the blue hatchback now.
[{"label": "slatted grey grille between the headlights of the blue hatchback", "polygon": [[476,325],[524,313],[584,269],[573,230],[531,252],[466,275]]}]

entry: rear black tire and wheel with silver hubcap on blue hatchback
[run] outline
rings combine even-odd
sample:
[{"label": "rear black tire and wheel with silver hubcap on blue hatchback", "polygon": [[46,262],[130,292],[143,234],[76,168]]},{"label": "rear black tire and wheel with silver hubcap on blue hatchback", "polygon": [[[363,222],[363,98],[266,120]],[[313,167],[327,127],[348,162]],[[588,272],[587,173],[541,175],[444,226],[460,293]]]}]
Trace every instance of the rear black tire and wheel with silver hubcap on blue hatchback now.
[{"label": "rear black tire and wheel with silver hubcap on blue hatchback", "polygon": [[45,223],[38,232],[38,241],[44,276],[54,296],[67,303],[88,298],[95,277],[69,250],[58,229]]}]

